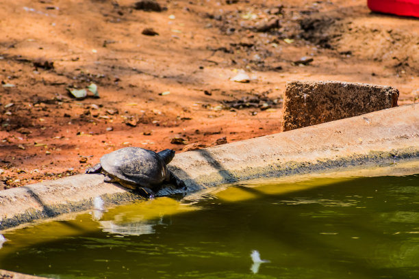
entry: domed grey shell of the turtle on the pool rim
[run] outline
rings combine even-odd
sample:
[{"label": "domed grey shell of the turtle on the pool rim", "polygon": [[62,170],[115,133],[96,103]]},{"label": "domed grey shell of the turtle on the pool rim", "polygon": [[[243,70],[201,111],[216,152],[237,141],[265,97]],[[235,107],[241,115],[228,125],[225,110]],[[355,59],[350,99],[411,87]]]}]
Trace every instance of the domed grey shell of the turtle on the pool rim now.
[{"label": "domed grey shell of the turtle on the pool rim", "polygon": [[166,180],[167,167],[154,151],[126,147],[101,157],[102,169],[121,184],[152,187]]}]

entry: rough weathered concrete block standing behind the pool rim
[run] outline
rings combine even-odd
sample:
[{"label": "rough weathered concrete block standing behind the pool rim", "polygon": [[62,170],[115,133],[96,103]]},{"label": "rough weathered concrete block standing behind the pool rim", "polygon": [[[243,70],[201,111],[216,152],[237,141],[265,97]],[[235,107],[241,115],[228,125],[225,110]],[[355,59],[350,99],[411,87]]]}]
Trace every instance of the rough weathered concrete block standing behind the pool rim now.
[{"label": "rough weathered concrete block standing behind the pool rim", "polygon": [[283,104],[283,131],[397,106],[390,86],[342,81],[291,81]]}]

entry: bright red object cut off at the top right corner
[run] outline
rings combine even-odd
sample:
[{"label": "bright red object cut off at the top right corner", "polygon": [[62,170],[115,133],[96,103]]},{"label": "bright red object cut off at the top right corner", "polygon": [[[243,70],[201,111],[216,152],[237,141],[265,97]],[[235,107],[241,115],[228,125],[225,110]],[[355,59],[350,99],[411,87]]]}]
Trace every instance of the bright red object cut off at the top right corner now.
[{"label": "bright red object cut off at the top right corner", "polygon": [[368,8],[374,12],[419,17],[419,0],[368,0]]}]

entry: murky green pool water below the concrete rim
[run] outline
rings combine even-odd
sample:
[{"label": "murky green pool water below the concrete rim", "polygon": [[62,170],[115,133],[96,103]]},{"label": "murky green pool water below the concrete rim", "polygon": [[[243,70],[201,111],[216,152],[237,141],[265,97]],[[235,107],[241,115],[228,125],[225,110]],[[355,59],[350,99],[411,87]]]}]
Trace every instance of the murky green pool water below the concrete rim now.
[{"label": "murky green pool water below the concrete rim", "polygon": [[0,269],[49,278],[419,278],[419,174],[235,185],[179,200],[3,232]]}]

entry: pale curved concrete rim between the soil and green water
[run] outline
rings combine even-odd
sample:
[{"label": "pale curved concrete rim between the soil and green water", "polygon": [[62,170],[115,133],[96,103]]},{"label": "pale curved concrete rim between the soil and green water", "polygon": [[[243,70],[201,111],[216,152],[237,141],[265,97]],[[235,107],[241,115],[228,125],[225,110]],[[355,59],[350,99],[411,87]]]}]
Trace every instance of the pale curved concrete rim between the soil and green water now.
[{"label": "pale curved concrete rim between the soil and green water", "polygon": [[[290,176],[419,159],[419,104],[375,111],[284,133],[183,152],[169,168],[186,191],[162,187],[157,196],[198,191],[253,178]],[[419,173],[419,170],[418,170]],[[0,230],[62,213],[140,197],[101,174],[78,174],[0,191]]]}]

